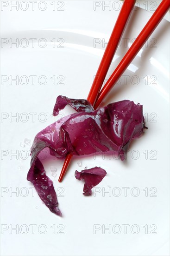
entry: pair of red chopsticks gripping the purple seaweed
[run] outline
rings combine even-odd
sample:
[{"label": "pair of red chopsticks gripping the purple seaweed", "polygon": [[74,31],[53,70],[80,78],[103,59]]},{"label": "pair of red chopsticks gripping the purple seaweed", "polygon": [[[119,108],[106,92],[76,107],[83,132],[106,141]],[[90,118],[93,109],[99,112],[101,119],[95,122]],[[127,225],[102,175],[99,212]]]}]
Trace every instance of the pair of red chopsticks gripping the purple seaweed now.
[{"label": "pair of red chopsticks gripping the purple seaweed", "polygon": [[[124,73],[126,68],[132,62],[134,57],[139,53],[139,50],[143,47],[146,40],[150,37],[152,32],[155,30],[159,22],[163,19],[165,13],[170,8],[170,0],[162,0],[160,5],[157,7],[157,10],[152,14],[150,20],[147,22],[145,27],[140,32],[137,39],[134,41],[132,46],[129,48],[123,59],[120,61],[120,64],[116,67],[113,74],[108,79],[107,83],[101,90],[103,81],[107,75],[107,71],[110,67],[110,64],[113,60],[118,43],[121,39],[121,35],[126,27],[128,18],[132,12],[132,8],[136,0],[125,0],[123,6],[120,10],[120,14],[113,28],[110,40],[107,44],[106,50],[102,57],[100,66],[97,70],[97,74],[94,78],[94,82],[88,94],[87,100],[94,106],[96,109],[108,92],[113,88],[115,83],[119,80],[120,76]],[[100,92],[101,90],[101,92]],[[69,162],[72,158],[72,154],[66,156],[61,174],[58,181],[62,182],[63,176],[65,175]]]}]

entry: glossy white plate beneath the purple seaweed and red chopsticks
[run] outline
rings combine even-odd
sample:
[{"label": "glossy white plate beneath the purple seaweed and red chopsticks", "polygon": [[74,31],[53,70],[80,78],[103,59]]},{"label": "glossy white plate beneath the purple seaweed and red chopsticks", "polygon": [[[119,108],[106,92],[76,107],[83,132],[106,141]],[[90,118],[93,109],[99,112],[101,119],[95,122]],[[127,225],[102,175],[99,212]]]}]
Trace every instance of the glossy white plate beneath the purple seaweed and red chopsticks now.
[{"label": "glossy white plate beneath the purple seaweed and red chopsticks", "polygon": [[[122,77],[104,101],[108,104],[129,99],[144,106],[148,130],[132,143],[127,161],[109,159],[106,155],[96,159],[76,157],[62,183],[57,179],[63,162],[46,163],[47,174],[56,189],[60,188],[57,193],[60,193],[61,218],[42,204],[36,192],[32,194],[32,184],[26,180],[30,146],[24,144],[24,139],[32,143],[34,136],[53,122],[51,114],[57,95],[87,97],[105,49],[102,43],[94,48],[94,38],[98,42],[108,41],[119,14],[119,2],[114,1],[111,11],[107,7],[102,10],[102,1],[98,1],[101,6],[95,11],[94,1],[64,1],[64,5],[63,1],[56,1],[55,11],[54,1],[45,1],[44,11],[38,9],[39,2],[35,3],[34,11],[30,1],[28,6],[25,3],[19,6],[18,11],[13,6],[10,11],[10,5],[1,11],[1,37],[7,39],[1,48],[1,79],[7,80],[3,84],[1,81],[2,255],[169,255],[169,22],[162,20],[126,70],[127,85]],[[26,11],[21,10],[27,7]],[[39,6],[44,7],[44,3]],[[63,11],[57,10],[61,8]],[[140,8],[133,11],[108,75],[150,17],[150,12]],[[10,47],[10,38],[13,41],[18,38],[19,47],[15,44]],[[28,47],[24,47],[23,38]],[[34,48],[30,38],[37,38]],[[41,38],[47,42],[44,48],[38,45]],[[63,48],[53,48],[54,38],[56,46],[63,43],[60,45]],[[40,43],[43,46],[43,40]],[[16,75],[19,85],[12,80],[10,84],[10,76],[13,79]],[[28,77],[26,85],[24,75]],[[34,85],[30,75],[37,76]],[[56,85],[51,79],[54,75]],[[44,82],[40,76],[47,80],[45,85],[40,84]],[[18,115],[17,119],[12,119],[12,115]],[[12,155],[15,152],[17,156]],[[79,160],[82,168],[77,164]],[[56,177],[51,175],[51,164],[57,168]],[[83,183],[75,179],[74,172],[96,165],[105,168],[107,176],[91,197],[85,197]],[[111,195],[104,193],[107,190]],[[118,192],[120,196],[116,196]],[[139,195],[135,196],[136,193]],[[31,225],[36,225],[34,234]],[[129,225],[127,234],[122,225]],[[105,230],[108,227],[111,234]],[[137,228],[140,230],[134,234]],[[120,233],[115,234],[118,229]]]}]

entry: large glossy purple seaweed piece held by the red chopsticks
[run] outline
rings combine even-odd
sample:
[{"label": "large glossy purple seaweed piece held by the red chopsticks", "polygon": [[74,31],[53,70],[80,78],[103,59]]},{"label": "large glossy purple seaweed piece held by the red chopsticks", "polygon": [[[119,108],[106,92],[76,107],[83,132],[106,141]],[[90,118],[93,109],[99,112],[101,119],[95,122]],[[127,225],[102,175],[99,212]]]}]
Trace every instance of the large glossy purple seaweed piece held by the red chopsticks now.
[{"label": "large glossy purple seaweed piece held by the red chopsticks", "polygon": [[133,101],[111,103],[94,111],[86,100],[58,96],[53,114],[57,115],[67,104],[77,112],[61,118],[35,136],[31,147],[31,168],[27,175],[27,180],[33,183],[41,200],[59,216],[57,196],[52,181],[45,174],[39,153],[49,148],[50,155],[64,159],[69,153],[97,155],[113,151],[115,157],[123,161],[130,142],[138,138],[145,128],[143,107]]}]

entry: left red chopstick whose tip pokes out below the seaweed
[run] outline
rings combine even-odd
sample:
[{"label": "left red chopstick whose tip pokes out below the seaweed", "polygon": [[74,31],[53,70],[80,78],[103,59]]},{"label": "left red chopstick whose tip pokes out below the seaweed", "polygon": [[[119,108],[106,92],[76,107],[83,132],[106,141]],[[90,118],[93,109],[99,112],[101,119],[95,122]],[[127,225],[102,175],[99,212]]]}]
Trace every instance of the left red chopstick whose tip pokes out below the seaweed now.
[{"label": "left red chopstick whose tip pokes out below the seaweed", "polygon": [[[107,75],[107,71],[110,67],[110,64],[113,60],[115,51],[117,49],[117,46],[119,44],[121,35],[123,34],[123,31],[126,27],[126,23],[128,21],[128,18],[130,16],[130,13],[132,11],[132,8],[135,4],[136,0],[125,0],[123,3],[123,6],[120,10],[118,19],[115,23],[115,26],[113,28],[112,34],[110,36],[110,40],[107,44],[106,50],[103,54],[103,57],[101,59],[101,63],[100,66],[97,70],[97,74],[94,78],[94,82],[92,84],[92,87],[90,89],[90,92],[88,94],[88,98],[87,100],[94,105],[99,92],[101,90],[101,86],[103,84],[103,81]],[[65,175],[67,168],[69,166],[69,162],[71,161],[72,158],[72,154],[68,154],[65,158],[64,164],[63,164],[63,168],[61,170],[60,176],[58,181],[62,182],[63,180],[63,176]]]}]

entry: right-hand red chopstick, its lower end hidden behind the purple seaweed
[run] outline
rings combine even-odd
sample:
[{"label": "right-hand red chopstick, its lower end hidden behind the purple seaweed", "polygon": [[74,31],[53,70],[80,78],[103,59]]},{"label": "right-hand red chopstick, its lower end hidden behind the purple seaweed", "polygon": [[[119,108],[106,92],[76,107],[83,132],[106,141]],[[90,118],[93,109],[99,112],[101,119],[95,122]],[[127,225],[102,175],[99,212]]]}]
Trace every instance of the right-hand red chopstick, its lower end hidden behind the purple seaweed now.
[{"label": "right-hand red chopstick, its lower end hidden behind the purple seaweed", "polygon": [[108,94],[108,92],[113,88],[113,86],[118,81],[120,76],[124,73],[124,71],[132,62],[134,57],[138,54],[139,50],[143,47],[146,40],[150,37],[152,32],[155,30],[159,22],[163,19],[164,15],[166,14],[169,8],[170,8],[170,0],[162,0],[160,5],[157,7],[157,10],[153,13],[150,20],[142,29],[137,39],[134,41],[134,43],[129,48],[129,50],[123,57],[123,59],[120,61],[120,64],[116,67],[113,74],[108,79],[105,86],[102,88],[98,96],[98,99],[94,104],[94,109],[98,108],[98,106],[101,104],[101,101]]}]

